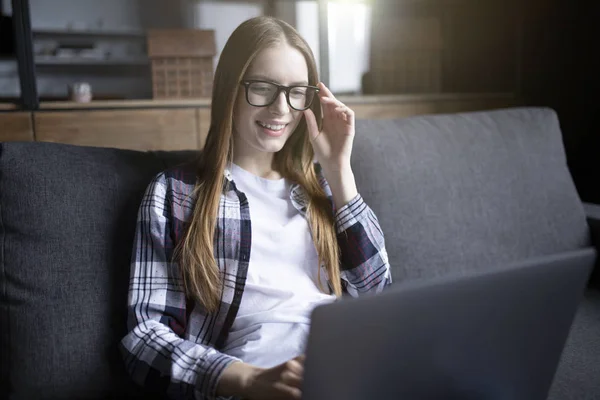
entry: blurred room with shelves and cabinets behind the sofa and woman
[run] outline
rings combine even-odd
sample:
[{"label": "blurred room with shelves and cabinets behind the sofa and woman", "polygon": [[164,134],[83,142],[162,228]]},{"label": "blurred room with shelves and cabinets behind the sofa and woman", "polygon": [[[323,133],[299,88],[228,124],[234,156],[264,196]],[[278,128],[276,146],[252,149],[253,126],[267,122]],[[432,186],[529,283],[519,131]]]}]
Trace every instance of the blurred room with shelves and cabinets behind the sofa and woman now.
[{"label": "blurred room with shelves and cabinets behind the sofa and woman", "polygon": [[552,107],[600,203],[598,2],[0,0],[0,141],[201,149],[220,51],[273,15],[358,118]]}]

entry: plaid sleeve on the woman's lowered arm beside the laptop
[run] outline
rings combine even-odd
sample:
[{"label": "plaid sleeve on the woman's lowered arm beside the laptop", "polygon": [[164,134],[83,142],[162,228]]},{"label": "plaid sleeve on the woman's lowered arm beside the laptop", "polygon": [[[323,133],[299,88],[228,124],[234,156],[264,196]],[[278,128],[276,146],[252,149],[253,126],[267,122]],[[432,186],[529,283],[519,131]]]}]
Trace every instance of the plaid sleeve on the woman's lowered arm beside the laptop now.
[{"label": "plaid sleeve on the woman's lowered arm beside the laptop", "polygon": [[128,298],[129,333],[121,341],[126,369],[139,385],[173,398],[213,399],[217,381],[237,359],[184,340],[186,298],[171,262],[167,180],[158,175],[138,213]]}]

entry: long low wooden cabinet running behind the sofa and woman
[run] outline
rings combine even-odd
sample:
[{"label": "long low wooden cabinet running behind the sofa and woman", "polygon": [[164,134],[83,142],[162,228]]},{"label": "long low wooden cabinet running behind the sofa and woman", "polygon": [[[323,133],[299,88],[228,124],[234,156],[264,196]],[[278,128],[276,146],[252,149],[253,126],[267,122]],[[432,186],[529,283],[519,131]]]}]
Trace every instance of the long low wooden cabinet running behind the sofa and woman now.
[{"label": "long low wooden cabinet running behind the sofa and woman", "polygon": [[[511,94],[339,96],[357,119],[489,110],[520,105]],[[33,120],[33,124],[32,124]],[[208,100],[42,103],[0,113],[0,141],[36,140],[130,150],[199,150],[210,129]]]}]

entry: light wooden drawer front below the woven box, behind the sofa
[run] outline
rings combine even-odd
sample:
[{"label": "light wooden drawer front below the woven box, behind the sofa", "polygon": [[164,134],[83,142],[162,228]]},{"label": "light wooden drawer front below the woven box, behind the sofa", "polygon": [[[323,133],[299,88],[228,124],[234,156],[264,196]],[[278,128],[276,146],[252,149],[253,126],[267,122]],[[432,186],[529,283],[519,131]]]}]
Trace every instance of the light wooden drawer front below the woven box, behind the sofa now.
[{"label": "light wooden drawer front below the woven box, behind the sofa", "polygon": [[198,148],[194,109],[56,111],[35,114],[38,141],[132,150]]}]

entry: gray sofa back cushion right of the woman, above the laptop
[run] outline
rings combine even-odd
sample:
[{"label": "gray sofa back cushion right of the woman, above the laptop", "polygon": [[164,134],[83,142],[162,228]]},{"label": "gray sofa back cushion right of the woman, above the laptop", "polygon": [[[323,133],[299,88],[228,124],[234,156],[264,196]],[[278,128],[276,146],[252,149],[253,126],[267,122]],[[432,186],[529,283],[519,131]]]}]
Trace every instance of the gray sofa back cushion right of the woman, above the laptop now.
[{"label": "gray sofa back cushion right of the woman, above the laptop", "polygon": [[589,244],[550,109],[357,121],[353,170],[396,283]]}]

